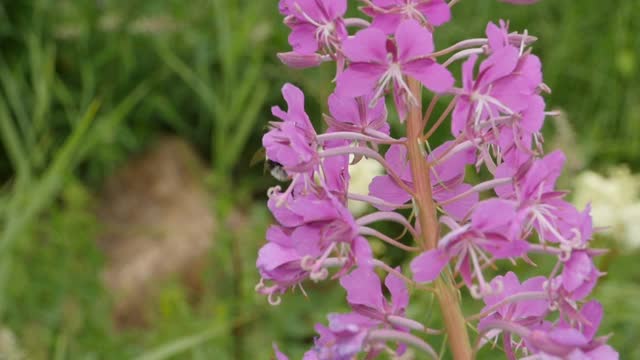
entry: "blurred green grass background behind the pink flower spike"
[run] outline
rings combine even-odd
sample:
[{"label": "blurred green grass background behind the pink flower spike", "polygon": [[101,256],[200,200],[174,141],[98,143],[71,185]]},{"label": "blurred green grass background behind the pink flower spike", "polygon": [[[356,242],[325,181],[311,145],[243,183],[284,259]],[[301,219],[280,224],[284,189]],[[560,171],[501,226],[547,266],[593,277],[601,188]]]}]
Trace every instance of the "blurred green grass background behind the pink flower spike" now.
[{"label": "blurred green grass background behind the pink flower spike", "polygon": [[[549,108],[564,113],[547,121],[547,146],[570,153],[570,175],[619,163],[637,172],[638,13],[638,0],[543,0],[531,7],[461,1],[437,44],[482,36],[487,21],[501,18],[513,30],[529,29],[539,37],[534,51],[553,89]],[[314,322],[347,310],[335,284],[310,285],[309,298],[288,295],[279,307],[253,291],[257,249],[270,222],[265,192],[274,181],[249,164],[269,108],[281,103],[282,84],[293,82],[320,119],[334,70],[281,65],[275,53],[289,49],[281,20],[276,1],[0,3],[0,358],[269,359],[272,341],[297,358]],[[163,147],[168,155],[145,155]],[[176,148],[188,155],[175,155]],[[163,156],[174,155],[195,165],[182,175],[155,172]],[[138,176],[137,167],[147,169]],[[128,175],[118,175],[123,168]],[[167,185],[177,195],[160,196],[163,206],[203,202],[205,218],[214,220],[202,225],[208,238],[197,247],[187,242],[191,235],[178,235],[187,253],[201,250],[196,257],[171,247],[155,254],[153,264],[179,263],[158,276],[156,265],[148,276],[121,274],[133,281],[133,293],[142,287],[139,278],[152,288],[122,305],[112,289],[126,286],[109,282],[109,271],[126,268],[120,257],[135,261],[154,249],[142,241],[142,249],[127,252],[122,239],[105,240],[105,233],[153,238],[136,232],[135,219],[120,229],[130,217],[121,214],[149,213],[145,226],[158,223],[169,233],[196,226],[178,211],[167,230],[162,219],[154,222],[156,210],[145,208],[155,206],[155,195],[138,197],[136,191],[169,178],[178,179]],[[184,183],[196,190],[182,196]],[[565,184],[572,186],[571,176]],[[129,212],[113,210],[126,199],[133,199]],[[597,241],[618,246],[615,239]],[[628,359],[640,358],[636,259],[615,250],[601,259],[609,275],[596,291],[607,309],[602,331],[614,333],[612,344]],[[412,313],[425,319],[429,299],[421,304]],[[441,339],[434,341],[438,347]]]}]

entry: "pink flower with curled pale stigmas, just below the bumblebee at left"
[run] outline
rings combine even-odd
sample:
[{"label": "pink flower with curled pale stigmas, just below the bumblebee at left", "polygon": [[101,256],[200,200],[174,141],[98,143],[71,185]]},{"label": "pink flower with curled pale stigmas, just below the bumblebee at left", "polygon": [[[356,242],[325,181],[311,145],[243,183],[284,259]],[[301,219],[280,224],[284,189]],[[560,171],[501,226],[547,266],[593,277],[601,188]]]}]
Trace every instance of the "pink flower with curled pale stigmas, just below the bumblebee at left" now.
[{"label": "pink flower with curled pale stigmas, just below the bumblebee at left", "polygon": [[299,186],[279,205],[282,199],[280,194],[272,194],[269,207],[280,225],[269,228],[267,243],[256,261],[262,277],[257,290],[268,295],[270,302],[278,303],[278,294],[307,278],[326,279],[326,262],[332,255],[337,256],[342,272],[371,259],[369,243],[358,234],[353,216],[334,196],[305,193]]}]

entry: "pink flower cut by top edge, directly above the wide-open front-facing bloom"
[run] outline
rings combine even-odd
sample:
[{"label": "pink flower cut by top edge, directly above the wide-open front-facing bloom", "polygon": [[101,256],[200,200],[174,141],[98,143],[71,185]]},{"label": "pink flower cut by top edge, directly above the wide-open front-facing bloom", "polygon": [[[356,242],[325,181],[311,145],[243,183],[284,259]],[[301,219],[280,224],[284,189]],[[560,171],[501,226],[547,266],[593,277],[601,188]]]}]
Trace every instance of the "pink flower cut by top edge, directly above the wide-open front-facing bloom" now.
[{"label": "pink flower cut by top edge, directly above the wide-open front-facing bloom", "polygon": [[373,17],[373,27],[387,34],[407,19],[427,26],[440,26],[451,19],[451,9],[444,0],[371,0],[362,10]]}]

